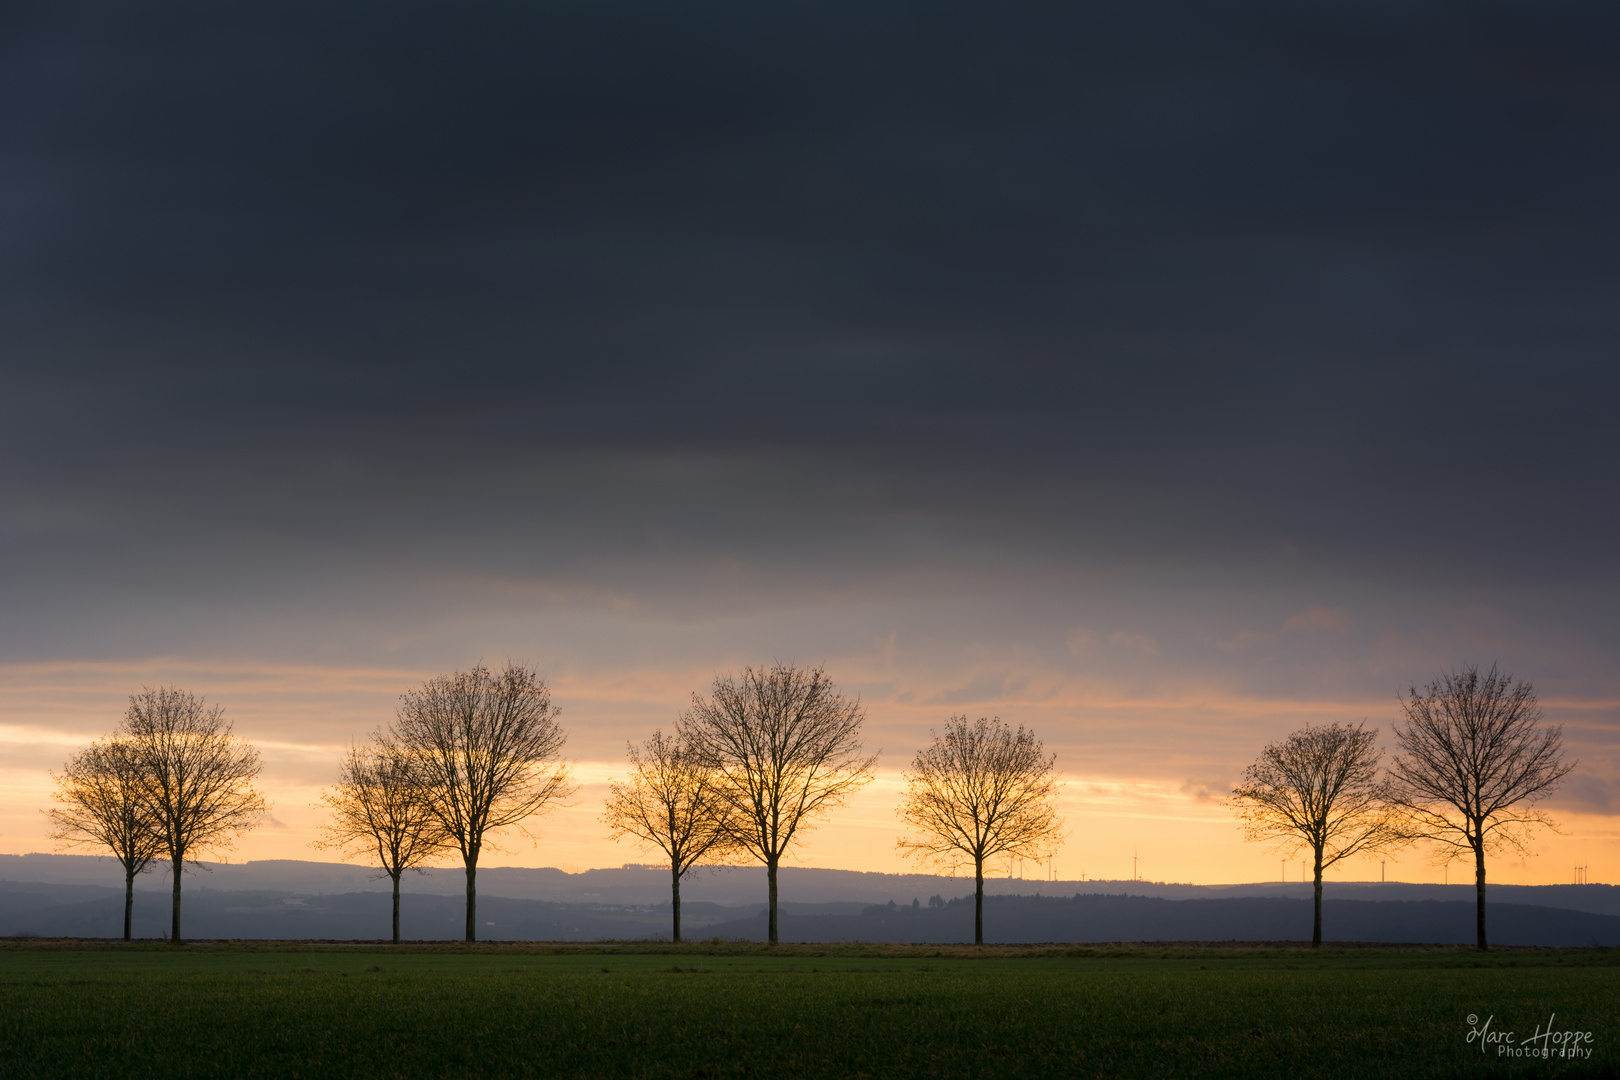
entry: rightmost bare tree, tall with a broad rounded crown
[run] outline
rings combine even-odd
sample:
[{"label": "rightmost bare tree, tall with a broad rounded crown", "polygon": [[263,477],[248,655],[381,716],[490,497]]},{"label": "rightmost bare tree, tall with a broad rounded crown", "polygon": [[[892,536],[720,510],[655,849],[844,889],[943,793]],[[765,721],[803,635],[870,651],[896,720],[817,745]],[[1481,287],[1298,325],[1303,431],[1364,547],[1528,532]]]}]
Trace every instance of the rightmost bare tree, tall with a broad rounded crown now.
[{"label": "rightmost bare tree, tall with a broad rounded crown", "polygon": [[1554,827],[1534,805],[1576,763],[1563,761],[1563,729],[1541,722],[1528,682],[1473,664],[1435,675],[1401,696],[1406,722],[1395,724],[1392,801],[1406,834],[1430,840],[1450,861],[1474,857],[1477,946],[1486,944],[1486,855],[1529,853],[1536,826]]}]

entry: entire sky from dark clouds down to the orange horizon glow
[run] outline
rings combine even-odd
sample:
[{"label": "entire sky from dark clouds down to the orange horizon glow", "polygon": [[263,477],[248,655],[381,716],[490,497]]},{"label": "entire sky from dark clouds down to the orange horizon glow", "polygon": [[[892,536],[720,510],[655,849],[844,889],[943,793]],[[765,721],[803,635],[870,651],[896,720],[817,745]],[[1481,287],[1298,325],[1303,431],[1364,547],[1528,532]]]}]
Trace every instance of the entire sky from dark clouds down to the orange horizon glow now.
[{"label": "entire sky from dark clouds down to the orange horizon glow", "polygon": [[1500,662],[1581,759],[1508,876],[1610,879],[1615,191],[1609,5],[6,5],[0,848],[144,682],[253,857],[423,677],[601,780],[784,659],[1233,881],[1267,740]]}]

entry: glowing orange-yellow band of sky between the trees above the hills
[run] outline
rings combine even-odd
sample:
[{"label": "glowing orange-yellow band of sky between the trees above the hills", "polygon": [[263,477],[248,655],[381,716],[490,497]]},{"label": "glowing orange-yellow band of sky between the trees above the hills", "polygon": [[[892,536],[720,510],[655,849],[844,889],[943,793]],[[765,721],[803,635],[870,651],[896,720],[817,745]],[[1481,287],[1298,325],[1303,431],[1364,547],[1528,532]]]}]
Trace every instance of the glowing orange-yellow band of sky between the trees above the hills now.
[{"label": "glowing orange-yellow band of sky between the trees above the hills", "polygon": [[[849,672],[829,665],[846,685],[862,685],[859,664]],[[428,672],[431,674],[431,672]],[[601,677],[562,672],[551,678],[564,709],[575,751],[580,790],[533,823],[533,842],[518,832],[501,840],[483,865],[557,866],[582,871],[650,861],[629,844],[614,844],[598,819],[606,784],[622,769],[627,738],[667,727],[708,674],[632,670]],[[1218,798],[1243,766],[1270,738],[1302,722],[1387,714],[1390,703],[1277,701],[1221,693],[1213,687],[1129,696],[1105,687],[1082,687],[1059,678],[1025,680],[1024,696],[993,708],[943,706],[927,687],[912,685],[881,696],[865,696],[868,743],[881,746],[876,780],[807,832],[792,860],[805,866],[912,873],[922,870],[894,850],[899,821],[894,808],[902,790],[901,769],[912,746],[927,738],[951,709],[1000,712],[1040,732],[1058,753],[1066,787],[1059,810],[1068,840],[1050,871],[1059,881],[1128,879],[1234,884],[1301,881],[1296,857],[1246,844],[1231,813]],[[230,861],[301,858],[330,861],[309,847],[321,811],[321,785],[350,738],[363,738],[386,724],[397,693],[423,672],[329,667],[209,667],[154,661],[149,664],[53,664],[0,667],[0,852],[23,855],[57,850],[47,837],[42,808],[50,805],[49,771],[79,745],[110,730],[130,690],[173,682],[206,693],[227,706],[237,732],[264,755],[261,787],[274,803],[267,819],[245,834]],[[1609,701],[1544,701],[1549,719],[1567,724],[1567,740],[1580,755],[1581,719],[1612,711]],[[1068,767],[1064,767],[1068,766]],[[1571,881],[1575,865],[1588,866],[1588,881],[1609,881],[1620,871],[1620,827],[1607,814],[1573,805],[1550,806],[1560,832],[1542,832],[1536,857],[1492,860],[1489,874],[1503,884]],[[1008,868],[995,868],[1006,876]],[[959,873],[967,873],[961,868]],[[1024,878],[1045,878],[1048,868],[1025,863]],[[1401,852],[1385,866],[1390,881],[1469,881],[1471,868],[1434,865],[1421,852]],[[1330,879],[1377,881],[1377,861],[1335,868]]]}]

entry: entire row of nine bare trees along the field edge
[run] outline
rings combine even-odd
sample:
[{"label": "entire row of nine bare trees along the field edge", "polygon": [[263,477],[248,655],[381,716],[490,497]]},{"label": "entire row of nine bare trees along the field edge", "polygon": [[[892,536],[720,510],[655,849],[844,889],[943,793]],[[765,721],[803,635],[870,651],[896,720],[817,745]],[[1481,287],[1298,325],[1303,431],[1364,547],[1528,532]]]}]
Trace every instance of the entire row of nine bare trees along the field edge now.
[{"label": "entire row of nine bare trees along the field edge", "polygon": [[[1486,857],[1528,850],[1536,808],[1573,767],[1562,732],[1542,724],[1528,682],[1474,667],[1401,696],[1398,753],[1388,767],[1377,730],[1306,727],[1268,745],[1228,805],[1251,840],[1306,848],[1322,873],[1351,857],[1426,842],[1440,858],[1476,863],[1477,944],[1486,947]],[[394,941],[407,871],[460,857],[467,941],[478,936],[478,860],[491,836],[525,831],[573,790],[551,691],[533,670],[478,665],[400,696],[394,722],[345,753],[321,797],[329,818],[316,845],[360,858],[392,879]],[[674,730],[629,745],[629,772],[609,784],[603,821],[614,839],[663,852],[672,938],[680,882],[705,865],[760,863],[768,939],[778,941],[778,870],[792,845],[873,779],[859,699],[821,669],[778,664],[719,675],[693,693]],[[181,941],[186,863],[227,850],[269,808],[253,787],[259,755],[219,706],[178,688],[131,695],[123,724],[76,753],[57,780],[53,836],[110,850],[125,871],[123,936],[134,878],[172,871],[170,941]],[[906,771],[897,813],[902,857],[927,866],[974,865],[974,941],[983,942],[985,863],[1047,858],[1063,842],[1056,756],[1035,733],[998,717],[953,716]]]}]

